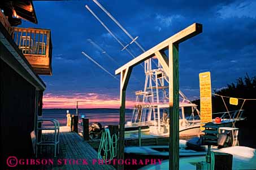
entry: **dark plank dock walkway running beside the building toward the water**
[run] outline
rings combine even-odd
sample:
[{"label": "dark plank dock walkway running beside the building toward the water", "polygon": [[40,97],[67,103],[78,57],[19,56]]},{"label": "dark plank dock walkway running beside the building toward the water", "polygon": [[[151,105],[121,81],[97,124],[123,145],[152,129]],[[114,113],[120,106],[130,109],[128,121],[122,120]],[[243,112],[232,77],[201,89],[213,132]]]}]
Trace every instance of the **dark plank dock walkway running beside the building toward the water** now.
[{"label": "dark plank dock walkway running beside the building toward the water", "polygon": [[[45,137],[51,137],[51,132],[43,131]],[[53,135],[52,135],[53,136]],[[60,149],[57,157],[54,158],[53,146],[43,146],[42,153],[38,154],[39,159],[50,159],[53,158],[53,164],[43,165],[40,169],[115,169],[112,165],[98,164],[98,162],[93,164],[98,158],[98,153],[93,149],[86,141],[81,138],[77,133],[70,132],[70,127],[60,127]],[[88,164],[83,164],[83,159],[86,160]],[[65,160],[66,164],[65,164]],[[74,160],[79,160],[79,164],[74,162]],[[60,164],[60,162],[62,164]]]}]

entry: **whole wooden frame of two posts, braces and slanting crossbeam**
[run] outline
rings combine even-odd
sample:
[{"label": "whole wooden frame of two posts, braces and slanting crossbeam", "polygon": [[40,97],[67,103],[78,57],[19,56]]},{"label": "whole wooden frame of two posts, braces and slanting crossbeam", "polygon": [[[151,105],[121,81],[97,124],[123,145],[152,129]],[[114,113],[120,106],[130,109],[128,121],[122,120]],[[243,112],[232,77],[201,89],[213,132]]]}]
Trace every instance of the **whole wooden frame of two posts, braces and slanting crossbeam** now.
[{"label": "whole wooden frame of two posts, braces and slanting crossbeam", "polygon": [[[121,74],[118,159],[124,159],[125,92],[132,68],[156,56],[169,77],[169,169],[179,169],[179,44],[199,33],[202,33],[202,24],[194,23],[115,70],[116,75]],[[169,51],[168,57],[164,50]],[[124,169],[124,166],[118,165],[118,169]]]}]

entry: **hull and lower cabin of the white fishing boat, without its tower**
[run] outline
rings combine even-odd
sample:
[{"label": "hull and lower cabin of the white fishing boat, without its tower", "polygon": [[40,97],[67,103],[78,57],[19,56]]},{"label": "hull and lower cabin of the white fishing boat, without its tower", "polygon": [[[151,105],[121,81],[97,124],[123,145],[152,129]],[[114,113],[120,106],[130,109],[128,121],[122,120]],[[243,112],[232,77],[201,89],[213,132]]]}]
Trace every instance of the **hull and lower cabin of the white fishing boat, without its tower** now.
[{"label": "hull and lower cabin of the white fishing boat, without its tower", "polygon": [[[164,105],[158,105],[159,107]],[[183,108],[184,104],[180,104],[180,108]],[[196,106],[194,104],[188,104],[187,107]],[[179,120],[179,131],[180,135],[191,135],[191,134],[199,134],[201,132],[201,120],[199,115],[190,115],[189,117],[185,117],[183,113],[184,109],[180,109],[180,120]],[[219,127],[232,127],[238,120],[244,120],[242,117],[244,110],[233,110],[222,113],[213,113],[214,117],[218,117],[220,122],[216,122],[216,119],[212,119],[212,122],[215,123]],[[163,113],[164,114],[164,113]],[[238,115],[238,117],[237,117]],[[141,128],[142,137],[148,135],[160,135],[160,136],[168,136],[169,135],[169,123],[168,118],[167,121],[164,120],[166,118],[163,116],[160,121],[160,127],[157,126],[157,122],[155,120],[149,120],[146,122],[127,122],[125,124],[125,137],[137,137],[138,136],[138,128]],[[159,131],[160,129],[160,131]]]}]

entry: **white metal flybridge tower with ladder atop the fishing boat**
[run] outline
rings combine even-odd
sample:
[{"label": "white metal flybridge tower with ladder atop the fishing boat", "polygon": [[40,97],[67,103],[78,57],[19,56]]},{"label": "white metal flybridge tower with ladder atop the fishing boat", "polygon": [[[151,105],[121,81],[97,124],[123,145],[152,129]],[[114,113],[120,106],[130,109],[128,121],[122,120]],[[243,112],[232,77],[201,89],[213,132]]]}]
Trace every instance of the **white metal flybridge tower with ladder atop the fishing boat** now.
[{"label": "white metal flybridge tower with ladder atop the fishing boat", "polygon": [[[160,64],[159,59],[164,56],[167,59],[166,54],[162,52],[155,52],[153,59],[158,59],[156,66],[152,69],[151,59],[145,61],[145,86],[144,90],[136,91],[136,104],[133,109],[131,122],[127,122],[127,126],[145,126],[154,125],[157,128],[153,133],[160,135],[161,124],[168,123],[164,119],[168,119],[168,102],[169,102],[169,77],[163,66]],[[181,108],[181,120],[185,124],[185,113],[184,107],[191,107],[191,114],[194,117],[194,111],[199,115],[199,110],[196,105],[192,104],[191,101],[184,95],[183,92],[179,91],[180,95],[180,108]],[[164,113],[160,114],[163,111]],[[166,114],[166,115],[164,115]],[[153,119],[152,119],[153,116]]]}]

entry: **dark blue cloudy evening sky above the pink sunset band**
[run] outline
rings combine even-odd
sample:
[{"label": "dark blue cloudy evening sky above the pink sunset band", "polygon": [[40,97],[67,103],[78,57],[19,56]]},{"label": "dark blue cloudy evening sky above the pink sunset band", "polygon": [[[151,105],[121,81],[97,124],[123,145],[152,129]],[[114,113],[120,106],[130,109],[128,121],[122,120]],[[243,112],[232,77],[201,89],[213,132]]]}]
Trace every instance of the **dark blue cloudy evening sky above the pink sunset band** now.
[{"label": "dark blue cloudy evening sky above the pink sunset band", "polygon": [[[193,23],[203,24],[203,33],[181,43],[180,88],[190,98],[199,96],[198,74],[211,71],[212,88],[223,88],[238,77],[256,75],[256,2],[255,1],[109,1],[99,0],[137,41],[149,50],[164,39]],[[131,40],[93,1],[34,1],[38,25],[24,27],[51,29],[53,76],[42,76],[47,97],[65,99],[119,99],[119,82],[81,55],[93,57],[114,74],[115,69],[132,57],[86,10],[88,5],[124,44]],[[87,41],[92,39],[112,56]],[[132,44],[134,55],[141,53]],[[127,97],[134,100],[133,89],[141,90],[144,70],[133,70]],[[86,98],[87,99],[87,98]],[[93,99],[92,99],[93,101]],[[50,101],[49,101],[50,104]],[[89,104],[89,103],[88,103]],[[59,104],[60,105],[60,104]]]}]

